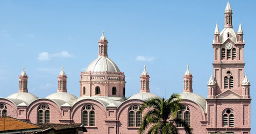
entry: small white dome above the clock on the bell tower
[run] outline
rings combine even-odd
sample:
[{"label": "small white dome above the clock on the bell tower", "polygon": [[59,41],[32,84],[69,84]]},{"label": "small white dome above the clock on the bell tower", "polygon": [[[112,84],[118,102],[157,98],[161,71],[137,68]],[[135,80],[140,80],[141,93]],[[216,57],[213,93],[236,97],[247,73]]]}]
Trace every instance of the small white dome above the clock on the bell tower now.
[{"label": "small white dome above the clock on the bell tower", "polygon": [[228,37],[227,37],[227,33],[230,33],[229,38],[236,43],[237,41],[237,33],[234,31],[234,29],[232,27],[225,27],[219,35],[219,41],[220,43],[223,43]]}]

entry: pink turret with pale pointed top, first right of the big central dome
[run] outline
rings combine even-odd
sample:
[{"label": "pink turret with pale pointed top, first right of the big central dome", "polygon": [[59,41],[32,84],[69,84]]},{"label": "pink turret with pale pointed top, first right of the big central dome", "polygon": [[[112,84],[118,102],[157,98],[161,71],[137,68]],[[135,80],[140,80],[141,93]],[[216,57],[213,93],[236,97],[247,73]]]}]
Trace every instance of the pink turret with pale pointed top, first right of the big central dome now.
[{"label": "pink turret with pale pointed top, first right of the big central dome", "polygon": [[144,70],[140,75],[140,92],[150,92],[150,90],[149,90],[149,75],[146,71],[146,65],[144,65]]}]

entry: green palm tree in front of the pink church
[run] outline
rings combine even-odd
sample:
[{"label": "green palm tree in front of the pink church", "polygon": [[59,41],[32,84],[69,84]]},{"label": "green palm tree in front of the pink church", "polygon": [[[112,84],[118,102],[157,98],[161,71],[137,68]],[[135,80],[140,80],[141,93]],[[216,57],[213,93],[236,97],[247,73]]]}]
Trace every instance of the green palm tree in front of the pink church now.
[{"label": "green palm tree in front of the pink church", "polygon": [[147,133],[179,133],[175,123],[182,124],[186,134],[191,134],[189,124],[183,119],[176,118],[176,113],[180,110],[180,96],[177,93],[171,94],[170,98],[165,99],[160,97],[152,97],[146,99],[140,108],[143,112],[146,108],[146,113],[142,118],[141,126],[138,130],[143,133],[148,128]]}]

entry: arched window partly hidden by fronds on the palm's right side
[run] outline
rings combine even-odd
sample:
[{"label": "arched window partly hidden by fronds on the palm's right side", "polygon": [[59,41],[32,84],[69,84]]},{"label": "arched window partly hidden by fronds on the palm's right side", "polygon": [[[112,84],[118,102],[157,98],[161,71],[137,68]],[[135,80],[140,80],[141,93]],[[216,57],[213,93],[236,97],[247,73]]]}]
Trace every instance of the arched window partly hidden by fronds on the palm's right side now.
[{"label": "arched window partly hidden by fronds on the palm's right side", "polygon": [[[177,112],[176,118],[184,119],[187,124],[190,124],[190,112],[189,108],[186,105],[182,105],[181,110]],[[182,124],[176,123],[177,127],[182,127]]]}]

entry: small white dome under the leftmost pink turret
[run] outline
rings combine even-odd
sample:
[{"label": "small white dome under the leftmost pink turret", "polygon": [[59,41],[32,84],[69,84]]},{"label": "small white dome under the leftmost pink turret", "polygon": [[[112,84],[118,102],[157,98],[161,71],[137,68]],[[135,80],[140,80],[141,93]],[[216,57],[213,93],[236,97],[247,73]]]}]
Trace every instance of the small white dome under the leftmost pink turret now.
[{"label": "small white dome under the leftmost pink turret", "polygon": [[13,93],[13,94],[7,96],[7,98],[20,99],[20,100],[25,101],[27,104],[30,104],[31,102],[33,102],[38,97],[35,96],[32,93],[29,93],[29,92],[16,92],[16,93]]}]

